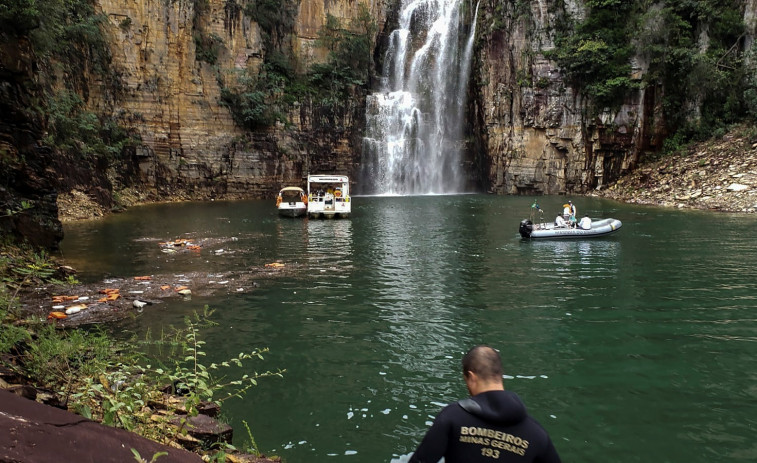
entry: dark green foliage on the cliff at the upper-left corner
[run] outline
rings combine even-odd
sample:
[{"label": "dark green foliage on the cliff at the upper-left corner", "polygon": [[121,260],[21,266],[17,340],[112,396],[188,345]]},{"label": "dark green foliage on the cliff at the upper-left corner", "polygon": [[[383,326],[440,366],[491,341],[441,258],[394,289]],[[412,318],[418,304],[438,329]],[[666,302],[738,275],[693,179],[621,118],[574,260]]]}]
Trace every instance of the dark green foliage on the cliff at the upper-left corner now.
[{"label": "dark green foliage on the cliff at the upper-left corner", "polygon": [[[88,74],[102,77],[106,95],[120,89],[101,29],[105,21],[90,0],[0,0],[0,28],[31,39],[35,55],[43,60],[43,72],[49,74],[43,80],[66,76],[57,82],[58,88],[65,88],[39,89],[42,97],[34,110],[47,118],[44,142],[88,162],[118,159],[135,142],[113,116],[86,109]],[[126,18],[121,27],[130,24]]]}]

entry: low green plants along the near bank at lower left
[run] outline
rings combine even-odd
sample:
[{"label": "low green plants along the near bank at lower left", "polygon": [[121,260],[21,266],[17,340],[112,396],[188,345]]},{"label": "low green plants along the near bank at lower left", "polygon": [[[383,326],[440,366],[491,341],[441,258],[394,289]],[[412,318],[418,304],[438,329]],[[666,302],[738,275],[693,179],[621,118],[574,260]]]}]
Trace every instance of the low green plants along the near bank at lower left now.
[{"label": "low green plants along the near bank at lower left", "polygon": [[[22,318],[17,310],[18,290],[55,282],[54,268],[44,253],[3,247],[2,364],[33,385],[54,391],[69,408],[87,418],[167,442],[177,433],[187,432],[186,417],[197,415],[203,402],[220,404],[230,397],[241,397],[261,378],[282,376],[281,370],[259,373],[248,366],[249,361],[263,359],[267,349],[243,352],[227,361],[206,365],[202,361],[206,353],[201,333],[212,325],[212,311],[207,307],[201,314],[186,318],[183,328],[171,327],[159,339],[148,337],[141,343],[115,342],[102,330],[64,331],[44,320]],[[166,385],[181,390],[179,402],[167,399],[163,393]],[[185,418],[178,427],[169,423],[170,413],[156,420],[149,406],[154,403],[163,404],[169,412],[181,411]],[[255,446],[251,434],[250,440]]]}]

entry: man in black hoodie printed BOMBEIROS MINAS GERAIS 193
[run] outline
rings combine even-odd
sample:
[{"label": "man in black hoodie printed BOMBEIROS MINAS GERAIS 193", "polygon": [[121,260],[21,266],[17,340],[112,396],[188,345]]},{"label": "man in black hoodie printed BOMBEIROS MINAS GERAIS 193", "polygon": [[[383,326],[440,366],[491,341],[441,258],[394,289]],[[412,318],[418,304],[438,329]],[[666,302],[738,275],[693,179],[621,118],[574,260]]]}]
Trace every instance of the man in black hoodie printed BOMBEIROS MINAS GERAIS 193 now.
[{"label": "man in black hoodie printed BOMBEIROS MINAS GERAIS 193", "polygon": [[471,397],[447,405],[410,457],[410,463],[560,463],[549,434],[505,391],[502,360],[489,346],[463,357]]}]

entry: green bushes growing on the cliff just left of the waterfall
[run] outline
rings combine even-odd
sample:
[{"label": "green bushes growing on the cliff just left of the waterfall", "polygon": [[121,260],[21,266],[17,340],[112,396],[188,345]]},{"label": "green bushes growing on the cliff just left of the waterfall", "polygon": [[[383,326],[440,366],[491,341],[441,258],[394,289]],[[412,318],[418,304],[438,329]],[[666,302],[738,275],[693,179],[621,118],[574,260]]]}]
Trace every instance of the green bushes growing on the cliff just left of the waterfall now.
[{"label": "green bushes growing on the cliff just left of the waterfall", "polygon": [[281,46],[287,27],[293,26],[290,3],[266,0],[244,7],[267,31],[270,46],[256,74],[242,71],[234,84],[223,87],[221,102],[229,107],[237,125],[248,130],[287,123],[287,113],[297,102],[313,104],[323,117],[333,119],[347,106],[354,89],[368,83],[376,32],[368,7],[359,4],[358,17],[349,28],[329,15],[317,40],[318,46],[329,50],[328,60],[298,73],[291,52]]}]

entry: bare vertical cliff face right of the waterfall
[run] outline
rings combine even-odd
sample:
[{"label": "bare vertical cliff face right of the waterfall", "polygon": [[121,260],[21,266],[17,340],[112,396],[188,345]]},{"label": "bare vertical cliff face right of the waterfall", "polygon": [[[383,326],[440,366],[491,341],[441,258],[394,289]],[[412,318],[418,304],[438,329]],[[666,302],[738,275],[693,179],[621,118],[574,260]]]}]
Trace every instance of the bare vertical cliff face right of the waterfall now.
[{"label": "bare vertical cliff face right of the waterfall", "polygon": [[[492,5],[484,23],[492,24]],[[507,4],[499,27],[482,33],[473,112],[481,134],[478,160],[489,191],[581,193],[628,171],[656,142],[654,93],[639,90],[616,112],[587,119],[586,102],[543,57],[554,48],[556,22],[581,17],[581,2],[540,0],[528,11]],[[501,13],[500,13],[501,14]],[[641,76],[635,70],[635,78]]]}]

